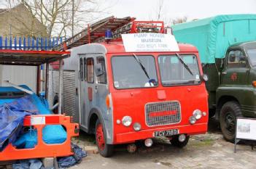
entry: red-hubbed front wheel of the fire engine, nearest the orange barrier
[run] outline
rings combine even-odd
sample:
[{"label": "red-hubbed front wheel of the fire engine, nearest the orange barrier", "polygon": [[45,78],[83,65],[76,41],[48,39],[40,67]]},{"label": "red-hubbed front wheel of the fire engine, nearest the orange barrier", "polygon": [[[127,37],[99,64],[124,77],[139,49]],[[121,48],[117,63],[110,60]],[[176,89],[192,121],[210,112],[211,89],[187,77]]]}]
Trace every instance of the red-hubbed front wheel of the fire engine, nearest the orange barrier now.
[{"label": "red-hubbed front wheel of the fire engine, nearest the orange barrier", "polygon": [[96,144],[98,152],[103,157],[110,157],[113,154],[113,145],[106,144],[106,131],[100,120],[96,122]]}]

